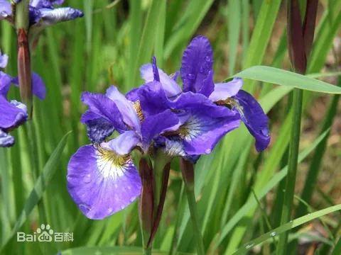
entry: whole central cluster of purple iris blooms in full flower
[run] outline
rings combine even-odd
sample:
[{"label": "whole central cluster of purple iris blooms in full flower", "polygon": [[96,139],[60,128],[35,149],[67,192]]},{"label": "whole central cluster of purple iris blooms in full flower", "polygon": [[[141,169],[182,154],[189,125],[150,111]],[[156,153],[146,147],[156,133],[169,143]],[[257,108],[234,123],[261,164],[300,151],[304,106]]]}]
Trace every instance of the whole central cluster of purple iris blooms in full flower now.
[{"label": "whole central cluster of purple iris blooms in full flower", "polygon": [[268,147],[269,120],[259,103],[241,89],[242,79],[215,83],[212,65],[209,40],[197,36],[183,53],[180,72],[169,76],[153,57],[141,67],[144,85],[126,95],[116,86],[105,94],[82,94],[88,110],[81,121],[92,144],[70,159],[67,188],[84,215],[103,219],[140,196],[133,150],[144,155],[158,150],[195,164],[241,121],[258,152]]}]

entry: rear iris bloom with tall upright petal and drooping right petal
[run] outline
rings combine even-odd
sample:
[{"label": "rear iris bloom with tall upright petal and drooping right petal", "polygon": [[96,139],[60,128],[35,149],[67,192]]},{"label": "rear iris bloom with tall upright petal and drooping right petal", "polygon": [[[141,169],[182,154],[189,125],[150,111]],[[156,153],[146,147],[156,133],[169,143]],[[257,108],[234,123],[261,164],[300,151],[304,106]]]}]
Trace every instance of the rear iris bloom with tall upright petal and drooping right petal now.
[{"label": "rear iris bloom with tall upright petal and drooping right petal", "polygon": [[[247,129],[256,140],[256,150],[263,151],[269,146],[269,119],[263,109],[246,91],[243,91],[243,81],[234,78],[232,81],[217,83],[213,81],[213,52],[210,41],[204,36],[197,36],[183,53],[180,76],[183,81],[183,93],[201,94],[217,106],[231,109],[247,126]],[[158,72],[163,90],[170,101],[176,98],[181,89],[176,83],[176,78],[168,77],[161,69],[156,67],[156,62],[141,67],[141,77],[148,83],[158,79]],[[176,75],[175,75],[176,77]],[[139,94],[133,91],[131,96]],[[139,96],[135,96],[139,97]],[[207,121],[207,120],[206,120]]]}]

